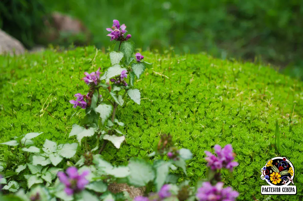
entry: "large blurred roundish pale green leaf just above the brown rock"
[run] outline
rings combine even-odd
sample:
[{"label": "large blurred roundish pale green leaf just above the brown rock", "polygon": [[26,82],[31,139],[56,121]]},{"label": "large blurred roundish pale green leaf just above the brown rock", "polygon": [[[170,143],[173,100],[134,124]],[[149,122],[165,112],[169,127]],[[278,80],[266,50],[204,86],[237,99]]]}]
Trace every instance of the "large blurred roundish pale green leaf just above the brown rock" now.
[{"label": "large blurred roundish pale green leaf just above the brown rock", "polygon": [[145,186],[149,181],[154,180],[155,172],[148,162],[143,159],[131,158],[128,163],[130,175],[129,183],[136,186]]}]

